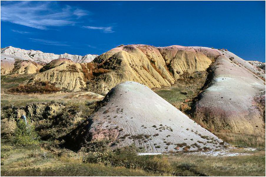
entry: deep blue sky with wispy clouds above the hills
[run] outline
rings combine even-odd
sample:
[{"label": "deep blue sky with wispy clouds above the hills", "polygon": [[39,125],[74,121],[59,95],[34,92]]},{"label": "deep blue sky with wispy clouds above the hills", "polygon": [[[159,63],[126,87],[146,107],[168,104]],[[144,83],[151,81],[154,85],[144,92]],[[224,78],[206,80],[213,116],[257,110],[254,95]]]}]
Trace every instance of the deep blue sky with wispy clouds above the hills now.
[{"label": "deep blue sky with wispy clouds above the hills", "polygon": [[1,1],[1,47],[99,55],[120,44],[226,48],[265,62],[265,1]]}]

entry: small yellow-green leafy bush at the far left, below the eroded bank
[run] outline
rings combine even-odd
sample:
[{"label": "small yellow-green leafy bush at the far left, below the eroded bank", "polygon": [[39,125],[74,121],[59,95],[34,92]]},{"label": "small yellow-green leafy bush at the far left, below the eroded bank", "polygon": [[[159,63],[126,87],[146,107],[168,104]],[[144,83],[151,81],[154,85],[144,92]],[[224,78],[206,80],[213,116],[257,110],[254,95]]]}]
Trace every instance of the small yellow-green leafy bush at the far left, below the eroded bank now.
[{"label": "small yellow-green leafy bush at the far left, below the eroded bank", "polygon": [[38,134],[34,126],[30,125],[29,122],[26,124],[23,120],[19,120],[15,130],[15,142],[19,146],[38,144]]}]

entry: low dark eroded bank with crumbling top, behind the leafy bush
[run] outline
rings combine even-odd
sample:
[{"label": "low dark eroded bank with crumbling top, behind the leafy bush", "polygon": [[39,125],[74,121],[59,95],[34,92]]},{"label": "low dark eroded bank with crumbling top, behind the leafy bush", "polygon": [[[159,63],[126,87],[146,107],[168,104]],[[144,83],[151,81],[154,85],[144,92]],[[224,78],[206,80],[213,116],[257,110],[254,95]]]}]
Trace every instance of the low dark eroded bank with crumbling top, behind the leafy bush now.
[{"label": "low dark eroded bank with crumbling top, behind the leafy bush", "polygon": [[19,108],[7,105],[1,108],[1,138],[12,136],[16,122],[25,115],[42,140],[53,141],[75,129],[86,119],[86,114],[87,110],[78,106],[56,102],[30,103]]}]

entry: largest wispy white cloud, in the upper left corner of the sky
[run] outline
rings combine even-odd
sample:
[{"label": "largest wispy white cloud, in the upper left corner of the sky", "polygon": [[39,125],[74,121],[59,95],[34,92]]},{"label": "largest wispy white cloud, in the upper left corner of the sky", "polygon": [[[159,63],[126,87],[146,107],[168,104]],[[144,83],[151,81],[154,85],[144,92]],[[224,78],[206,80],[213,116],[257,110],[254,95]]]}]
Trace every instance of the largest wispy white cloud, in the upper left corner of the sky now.
[{"label": "largest wispy white cloud, in the upper left corner of the sky", "polygon": [[51,26],[74,25],[76,18],[89,11],[71,6],[60,7],[53,1],[1,2],[1,21],[45,30]]}]

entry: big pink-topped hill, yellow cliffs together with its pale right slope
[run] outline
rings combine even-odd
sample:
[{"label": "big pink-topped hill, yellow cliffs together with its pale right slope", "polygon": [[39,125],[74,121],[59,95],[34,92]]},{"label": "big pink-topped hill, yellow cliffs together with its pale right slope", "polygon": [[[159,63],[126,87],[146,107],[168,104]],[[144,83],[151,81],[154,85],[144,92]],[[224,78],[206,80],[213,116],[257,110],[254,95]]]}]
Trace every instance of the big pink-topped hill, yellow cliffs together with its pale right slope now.
[{"label": "big pink-topped hill, yellow cliffs together with its pale right slope", "polygon": [[126,45],[93,62],[113,69],[97,78],[97,89],[103,92],[127,80],[149,88],[169,86],[184,73],[209,68],[205,90],[195,101],[194,119],[217,131],[253,134],[265,130],[265,71],[227,50]]}]

